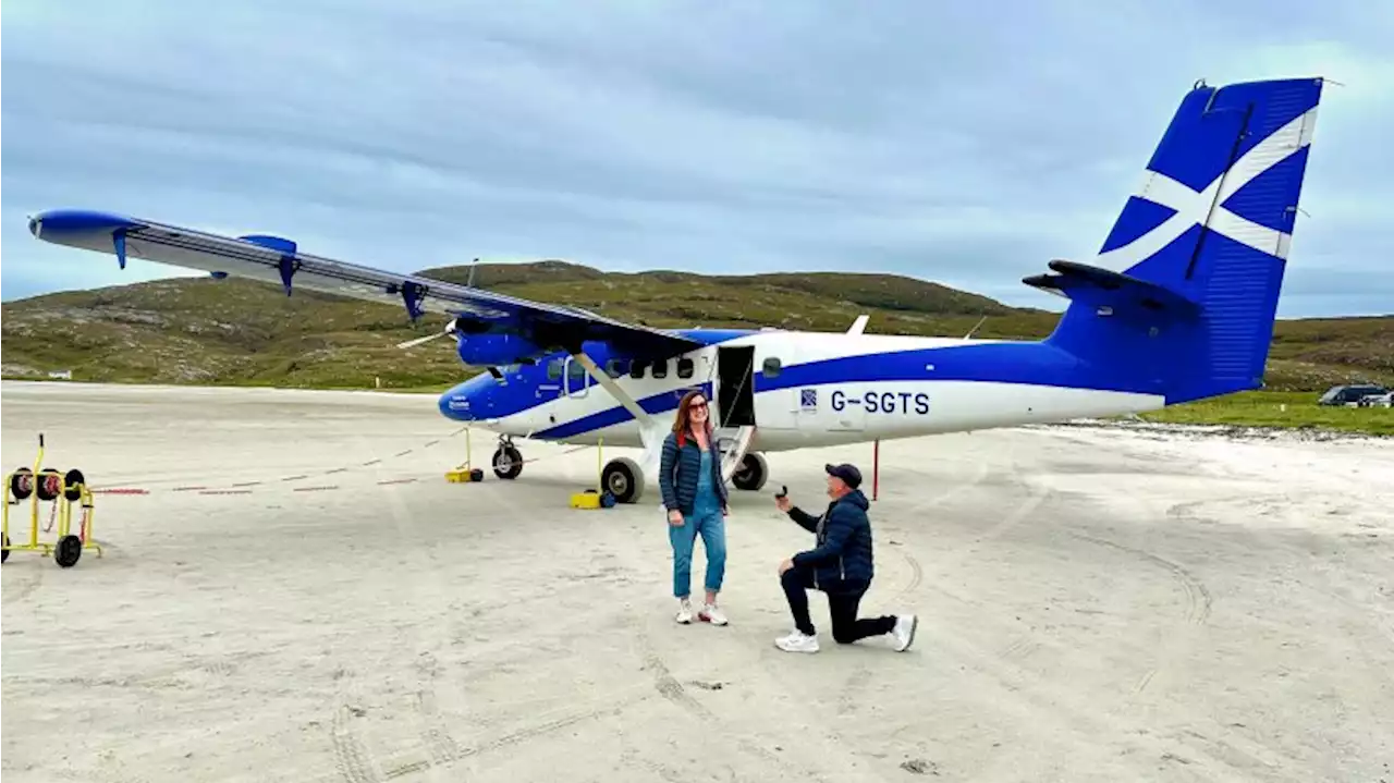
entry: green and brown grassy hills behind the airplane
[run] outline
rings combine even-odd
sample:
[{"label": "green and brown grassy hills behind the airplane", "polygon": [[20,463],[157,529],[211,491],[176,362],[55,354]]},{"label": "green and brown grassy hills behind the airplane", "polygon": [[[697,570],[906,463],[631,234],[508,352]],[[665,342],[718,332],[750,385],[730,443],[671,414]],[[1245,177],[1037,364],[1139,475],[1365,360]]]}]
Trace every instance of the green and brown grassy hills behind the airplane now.
[{"label": "green and brown grassy hills behind the airplane", "polygon": [[[424,272],[460,281],[468,268]],[[652,326],[781,326],[842,330],[863,312],[867,332],[1036,339],[1058,315],[892,274],[705,276],[608,273],[563,262],[480,265],[475,284],[573,304]],[[981,325],[979,326],[979,322]],[[0,305],[0,375],[68,369],[75,380],[439,387],[461,368],[447,340],[403,351],[413,329],[401,308],[248,280],[178,279],[35,297]],[[1270,389],[1316,392],[1348,380],[1394,382],[1394,318],[1284,320]]]}]

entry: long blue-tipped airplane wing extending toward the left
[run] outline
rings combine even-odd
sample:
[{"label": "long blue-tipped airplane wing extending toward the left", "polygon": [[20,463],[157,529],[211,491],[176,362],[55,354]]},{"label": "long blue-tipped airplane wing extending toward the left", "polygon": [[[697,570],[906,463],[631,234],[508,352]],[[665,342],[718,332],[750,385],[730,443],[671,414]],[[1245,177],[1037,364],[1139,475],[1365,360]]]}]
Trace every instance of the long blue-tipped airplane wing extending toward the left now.
[{"label": "long blue-tipped airplane wing extending toward the left", "polygon": [[701,344],[675,332],[626,323],[594,312],[459,286],[431,277],[385,272],[300,252],[282,237],[224,237],[123,215],[59,209],[29,219],[29,233],[46,242],[127,258],[201,269],[215,277],[240,276],[407,308],[415,322],[427,312],[456,316],[461,330],[516,333],[544,350],[579,352],[583,341],[672,355]]}]

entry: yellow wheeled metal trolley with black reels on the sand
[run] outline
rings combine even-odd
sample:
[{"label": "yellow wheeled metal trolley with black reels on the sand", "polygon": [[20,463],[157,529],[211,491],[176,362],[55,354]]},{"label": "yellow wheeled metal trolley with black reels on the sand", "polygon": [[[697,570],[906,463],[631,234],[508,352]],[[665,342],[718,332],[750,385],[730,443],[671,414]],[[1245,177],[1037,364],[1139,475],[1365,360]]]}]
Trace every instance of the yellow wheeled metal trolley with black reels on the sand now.
[{"label": "yellow wheeled metal trolley with black reels on the sand", "polygon": [[[79,470],[60,474],[53,468],[43,468],[43,435],[39,435],[39,456],[33,460],[33,468],[20,468],[4,476],[4,503],[0,510],[0,563],[10,559],[11,552],[42,552],[53,559],[63,568],[77,566],[84,549],[95,549],[96,556],[102,556],[102,546],[92,541],[92,520],[95,504],[92,492],[86,486],[86,478]],[[10,507],[29,502],[29,543],[14,543],[10,538]],[[50,527],[57,521],[57,541],[53,543],[39,541],[39,504],[52,503]],[[78,532],[72,532],[72,504],[82,509],[82,521],[78,522]]]}]

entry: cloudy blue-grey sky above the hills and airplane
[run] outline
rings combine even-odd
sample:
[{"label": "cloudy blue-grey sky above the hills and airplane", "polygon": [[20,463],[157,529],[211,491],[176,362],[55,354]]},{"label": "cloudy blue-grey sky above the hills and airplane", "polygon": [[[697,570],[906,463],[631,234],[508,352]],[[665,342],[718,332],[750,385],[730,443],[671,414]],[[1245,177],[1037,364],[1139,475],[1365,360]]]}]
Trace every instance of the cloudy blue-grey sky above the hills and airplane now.
[{"label": "cloudy blue-grey sky above the hills and airplane", "polygon": [[91,208],[385,269],[889,272],[1059,309],[1197,78],[1326,77],[1282,318],[1394,313],[1394,3],[4,0],[0,300],[191,274]]}]

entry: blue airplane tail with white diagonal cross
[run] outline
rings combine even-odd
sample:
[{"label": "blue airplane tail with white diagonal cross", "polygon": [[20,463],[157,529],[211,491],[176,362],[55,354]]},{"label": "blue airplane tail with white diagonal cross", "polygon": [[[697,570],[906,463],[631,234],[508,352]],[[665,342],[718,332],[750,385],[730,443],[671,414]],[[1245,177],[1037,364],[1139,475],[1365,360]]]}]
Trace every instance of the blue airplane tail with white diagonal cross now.
[{"label": "blue airplane tail with white diagonal cross", "polygon": [[1167,404],[1260,387],[1320,99],[1197,82],[1098,256],[1023,280],[1071,300],[1046,343]]}]

